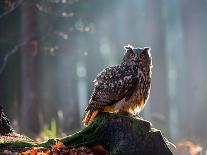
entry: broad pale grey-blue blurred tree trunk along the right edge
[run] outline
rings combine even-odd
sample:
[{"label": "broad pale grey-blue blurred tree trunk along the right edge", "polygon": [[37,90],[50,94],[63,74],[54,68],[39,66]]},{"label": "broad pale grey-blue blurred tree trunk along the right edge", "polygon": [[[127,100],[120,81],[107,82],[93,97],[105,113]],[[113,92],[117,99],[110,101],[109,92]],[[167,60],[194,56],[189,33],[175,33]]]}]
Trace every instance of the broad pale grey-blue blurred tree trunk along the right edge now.
[{"label": "broad pale grey-blue blurred tree trunk along the right edge", "polygon": [[[182,103],[180,128],[190,139],[206,141],[206,40],[207,6],[205,1],[182,0],[184,47],[186,52],[186,102]],[[185,112],[183,115],[183,112]],[[193,123],[192,123],[193,122]]]}]

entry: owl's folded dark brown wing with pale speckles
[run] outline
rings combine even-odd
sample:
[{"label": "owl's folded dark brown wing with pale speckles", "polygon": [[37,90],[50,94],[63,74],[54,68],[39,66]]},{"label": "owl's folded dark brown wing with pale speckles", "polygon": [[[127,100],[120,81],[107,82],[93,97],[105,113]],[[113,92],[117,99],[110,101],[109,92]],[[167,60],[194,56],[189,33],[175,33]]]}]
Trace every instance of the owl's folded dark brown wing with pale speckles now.
[{"label": "owl's folded dark brown wing with pale speckles", "polygon": [[[90,115],[93,115],[93,112],[97,113],[105,106],[113,105],[123,98],[128,100],[138,83],[137,72],[137,66],[117,65],[107,67],[98,74],[94,80],[95,88],[86,109],[86,115],[89,115],[86,118],[92,117]],[[86,118],[83,122],[90,122],[90,118],[89,120]]]}]

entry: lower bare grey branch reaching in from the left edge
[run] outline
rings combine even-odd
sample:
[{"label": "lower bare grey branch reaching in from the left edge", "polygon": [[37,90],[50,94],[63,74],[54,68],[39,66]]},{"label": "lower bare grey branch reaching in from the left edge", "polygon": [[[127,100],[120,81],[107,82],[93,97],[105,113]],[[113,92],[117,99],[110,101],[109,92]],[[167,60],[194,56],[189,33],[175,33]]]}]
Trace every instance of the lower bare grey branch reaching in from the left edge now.
[{"label": "lower bare grey branch reaching in from the left edge", "polygon": [[3,60],[3,64],[2,66],[0,66],[0,75],[3,73],[5,67],[6,67],[6,64],[7,64],[7,60],[9,58],[9,56],[11,56],[12,54],[16,53],[18,51],[18,49],[22,46],[24,46],[25,44],[27,43],[27,41],[24,41],[16,46],[14,46],[14,48],[8,52],[5,56],[4,56],[4,60]]}]

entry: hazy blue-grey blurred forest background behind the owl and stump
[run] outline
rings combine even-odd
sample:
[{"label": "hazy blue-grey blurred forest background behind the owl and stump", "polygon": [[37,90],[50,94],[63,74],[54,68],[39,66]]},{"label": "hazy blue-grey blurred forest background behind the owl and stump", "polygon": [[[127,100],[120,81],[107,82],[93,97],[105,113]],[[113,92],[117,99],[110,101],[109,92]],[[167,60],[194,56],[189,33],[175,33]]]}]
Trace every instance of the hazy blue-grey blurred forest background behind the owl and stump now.
[{"label": "hazy blue-grey blurred forest background behind the owl and stump", "polygon": [[120,62],[124,45],[149,46],[141,115],[173,142],[206,147],[206,16],[206,0],[2,0],[0,104],[28,136],[71,134],[96,74]]}]

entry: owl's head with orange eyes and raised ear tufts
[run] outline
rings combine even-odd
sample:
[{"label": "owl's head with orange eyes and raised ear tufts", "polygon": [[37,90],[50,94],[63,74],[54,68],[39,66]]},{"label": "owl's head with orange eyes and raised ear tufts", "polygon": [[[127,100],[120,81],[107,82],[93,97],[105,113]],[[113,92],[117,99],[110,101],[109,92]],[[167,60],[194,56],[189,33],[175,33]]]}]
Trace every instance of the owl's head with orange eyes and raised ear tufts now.
[{"label": "owl's head with orange eyes and raised ear tufts", "polygon": [[152,66],[151,48],[134,48],[131,45],[124,46],[126,52],[122,60],[124,65],[139,65],[140,67]]}]

